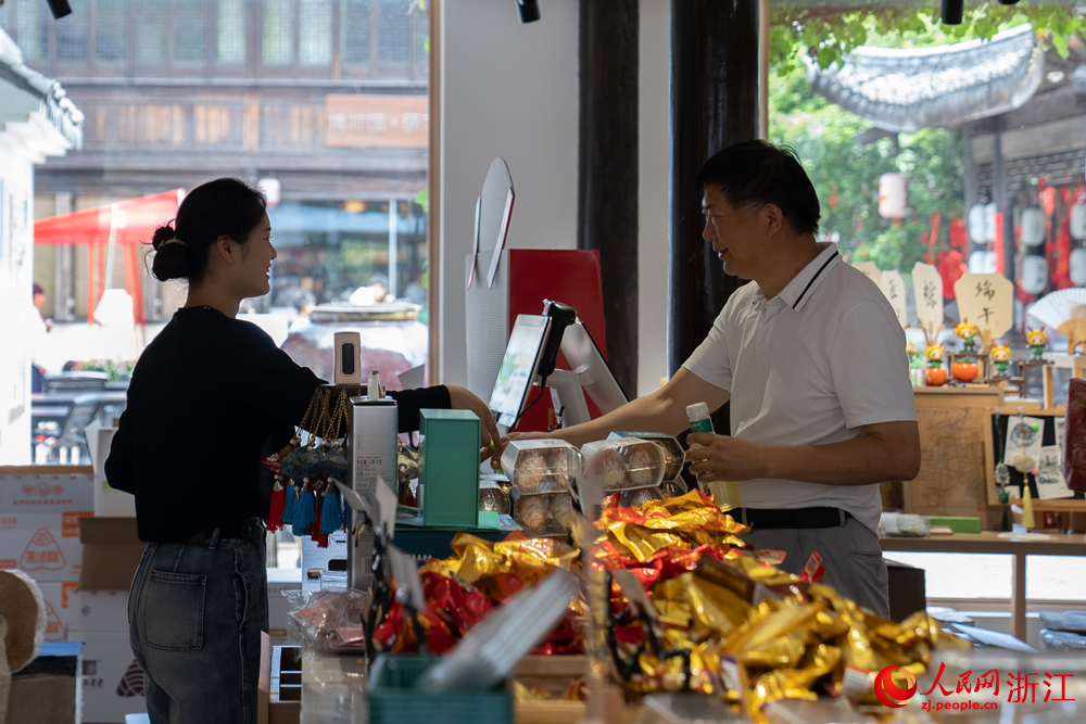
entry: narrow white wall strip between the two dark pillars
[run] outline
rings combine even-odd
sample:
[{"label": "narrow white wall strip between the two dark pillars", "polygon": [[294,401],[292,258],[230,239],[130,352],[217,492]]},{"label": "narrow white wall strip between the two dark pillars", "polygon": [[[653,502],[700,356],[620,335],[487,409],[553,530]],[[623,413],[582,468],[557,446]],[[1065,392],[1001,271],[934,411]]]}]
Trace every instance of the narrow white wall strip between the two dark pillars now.
[{"label": "narrow white wall strip between the two dark pillars", "polygon": [[668,174],[671,140],[671,11],[668,0],[641,0],[637,199],[637,394],[660,386],[667,369]]}]

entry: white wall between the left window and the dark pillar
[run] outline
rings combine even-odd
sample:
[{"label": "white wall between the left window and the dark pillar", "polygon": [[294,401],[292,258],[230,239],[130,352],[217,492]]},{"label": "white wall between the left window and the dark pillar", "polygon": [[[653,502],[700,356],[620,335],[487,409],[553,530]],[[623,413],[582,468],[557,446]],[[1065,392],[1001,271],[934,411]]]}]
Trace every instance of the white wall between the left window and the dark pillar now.
[{"label": "white wall between the left window and the dark pillar", "polygon": [[517,201],[507,244],[577,247],[578,1],[545,0],[521,25],[515,0],[445,0],[441,55],[441,371],[467,381],[464,258],[494,156]]}]

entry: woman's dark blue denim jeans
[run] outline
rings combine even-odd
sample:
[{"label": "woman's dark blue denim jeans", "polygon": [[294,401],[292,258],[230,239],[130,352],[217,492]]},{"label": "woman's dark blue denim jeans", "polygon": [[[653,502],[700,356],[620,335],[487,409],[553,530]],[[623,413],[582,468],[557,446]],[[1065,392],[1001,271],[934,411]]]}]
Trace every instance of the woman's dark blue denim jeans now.
[{"label": "woman's dark blue denim jeans", "polygon": [[268,630],[263,539],[149,543],[128,599],[151,724],[256,724]]}]

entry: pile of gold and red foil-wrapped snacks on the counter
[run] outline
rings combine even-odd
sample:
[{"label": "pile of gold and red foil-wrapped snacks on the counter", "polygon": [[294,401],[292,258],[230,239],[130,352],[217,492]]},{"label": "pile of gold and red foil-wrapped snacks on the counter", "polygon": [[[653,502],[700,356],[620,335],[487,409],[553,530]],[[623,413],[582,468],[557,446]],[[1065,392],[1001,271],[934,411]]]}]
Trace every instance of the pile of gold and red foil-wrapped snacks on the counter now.
[{"label": "pile of gold and red foil-wrapped snacks on the counter", "polygon": [[[759,721],[761,707],[778,699],[844,691],[876,702],[864,682],[883,668],[915,675],[933,650],[969,647],[924,611],[894,623],[818,584],[817,574],[780,571],[770,551],[746,548],[737,534],[747,529],[698,491],[640,508],[618,507],[618,498],[607,499],[595,523],[601,534],[586,564],[632,573],[654,609],[639,611],[611,583],[607,638],[628,696],[689,688],[741,704]],[[420,570],[428,605],[420,623],[437,652],[520,587],[554,568],[581,568],[577,549],[519,534],[496,544],[460,534],[453,548],[452,558]],[[375,638],[393,651],[413,650],[397,607]],[[582,651],[583,615],[582,604],[572,606],[540,652]]]}]

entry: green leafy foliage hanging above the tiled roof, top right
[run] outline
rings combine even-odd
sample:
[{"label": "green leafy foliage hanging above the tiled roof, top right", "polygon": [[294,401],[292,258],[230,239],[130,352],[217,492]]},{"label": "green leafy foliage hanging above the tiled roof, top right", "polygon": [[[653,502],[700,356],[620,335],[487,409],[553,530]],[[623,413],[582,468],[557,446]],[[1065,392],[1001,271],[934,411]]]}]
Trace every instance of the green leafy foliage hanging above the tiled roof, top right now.
[{"label": "green leafy foliage hanging above the tiled roof, top right", "polygon": [[[970,2],[961,25],[944,25],[938,2],[842,10],[838,7],[778,7],[772,10],[770,56],[781,73],[791,72],[801,54],[825,68],[847,62],[859,46],[895,48],[990,39],[996,33],[1033,24],[1045,48],[1068,58],[1068,41],[1086,30],[1086,5],[1081,2],[1023,0],[1002,5],[996,0]],[[853,3],[858,4],[858,3]]]}]

